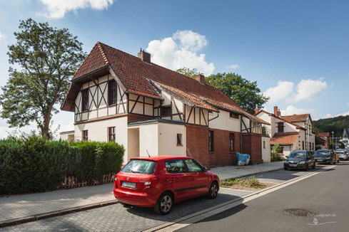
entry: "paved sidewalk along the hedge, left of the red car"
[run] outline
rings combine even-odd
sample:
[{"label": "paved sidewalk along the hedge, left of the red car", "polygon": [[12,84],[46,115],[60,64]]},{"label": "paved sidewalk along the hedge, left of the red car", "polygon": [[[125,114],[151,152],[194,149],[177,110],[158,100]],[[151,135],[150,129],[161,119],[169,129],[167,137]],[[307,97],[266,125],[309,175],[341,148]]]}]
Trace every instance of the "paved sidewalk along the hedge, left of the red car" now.
[{"label": "paved sidewalk along the hedge, left of the red car", "polygon": [[0,196],[0,223],[24,216],[115,200],[113,184],[61,189],[39,194]]}]

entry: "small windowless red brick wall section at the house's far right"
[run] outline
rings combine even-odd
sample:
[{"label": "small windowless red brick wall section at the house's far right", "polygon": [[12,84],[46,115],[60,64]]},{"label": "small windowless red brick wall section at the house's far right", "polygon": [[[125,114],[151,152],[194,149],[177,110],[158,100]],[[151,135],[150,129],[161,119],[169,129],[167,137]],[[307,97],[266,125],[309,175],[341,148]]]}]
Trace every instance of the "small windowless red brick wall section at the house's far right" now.
[{"label": "small windowless red brick wall section at the house's far right", "polygon": [[263,164],[262,135],[243,134],[243,153],[251,156],[251,164]]}]

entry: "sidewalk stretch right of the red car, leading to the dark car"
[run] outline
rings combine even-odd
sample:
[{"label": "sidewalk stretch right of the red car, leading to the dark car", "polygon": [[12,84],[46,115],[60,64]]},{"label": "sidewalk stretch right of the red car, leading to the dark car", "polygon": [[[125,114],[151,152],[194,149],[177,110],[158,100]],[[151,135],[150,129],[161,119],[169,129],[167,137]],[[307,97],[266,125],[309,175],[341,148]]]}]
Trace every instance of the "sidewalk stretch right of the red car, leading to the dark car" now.
[{"label": "sidewalk stretch right of the red car, leading to the dark car", "polygon": [[214,167],[212,172],[218,174],[219,179],[231,179],[242,176],[256,175],[263,172],[271,172],[283,169],[283,162],[272,162],[266,164],[247,165],[243,167],[238,166],[226,166],[226,167]]}]

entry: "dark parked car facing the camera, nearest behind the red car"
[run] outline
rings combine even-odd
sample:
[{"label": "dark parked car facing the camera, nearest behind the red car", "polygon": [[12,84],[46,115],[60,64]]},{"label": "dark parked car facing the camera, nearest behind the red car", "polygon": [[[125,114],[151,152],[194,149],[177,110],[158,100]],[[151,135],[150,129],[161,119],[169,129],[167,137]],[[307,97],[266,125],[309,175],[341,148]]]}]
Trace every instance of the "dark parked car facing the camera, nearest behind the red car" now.
[{"label": "dark parked car facing the camera, nearest behind the red car", "polygon": [[313,152],[307,150],[295,150],[286,157],[283,163],[283,169],[304,169],[308,171],[309,167],[315,169],[315,158]]}]

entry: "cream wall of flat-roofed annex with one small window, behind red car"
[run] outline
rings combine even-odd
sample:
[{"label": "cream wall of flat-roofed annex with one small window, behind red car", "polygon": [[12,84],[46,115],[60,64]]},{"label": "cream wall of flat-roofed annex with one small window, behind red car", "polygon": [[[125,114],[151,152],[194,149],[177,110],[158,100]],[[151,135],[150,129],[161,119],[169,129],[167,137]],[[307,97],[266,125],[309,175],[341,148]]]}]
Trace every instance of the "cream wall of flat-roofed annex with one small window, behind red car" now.
[{"label": "cream wall of flat-roofed annex with one small window, behind red car", "polygon": [[[177,145],[177,134],[182,134],[182,145]],[[186,156],[186,127],[169,123],[158,124],[158,154]]]}]

